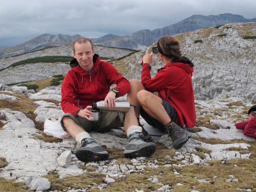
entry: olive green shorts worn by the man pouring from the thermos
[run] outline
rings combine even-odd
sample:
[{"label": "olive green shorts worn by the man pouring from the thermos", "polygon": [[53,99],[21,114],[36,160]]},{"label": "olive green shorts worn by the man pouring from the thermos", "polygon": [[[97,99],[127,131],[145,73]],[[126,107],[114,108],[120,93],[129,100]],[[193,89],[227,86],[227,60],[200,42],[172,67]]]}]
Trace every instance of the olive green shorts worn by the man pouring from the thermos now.
[{"label": "olive green shorts worn by the man pouring from the thermos", "polygon": [[76,124],[82,127],[86,132],[97,131],[104,132],[114,128],[124,126],[124,112],[100,112],[98,121],[90,121],[83,117],[74,116],[72,113],[65,113],[61,116],[60,124],[64,131],[66,128],[62,123],[62,118],[65,116],[70,117]]}]

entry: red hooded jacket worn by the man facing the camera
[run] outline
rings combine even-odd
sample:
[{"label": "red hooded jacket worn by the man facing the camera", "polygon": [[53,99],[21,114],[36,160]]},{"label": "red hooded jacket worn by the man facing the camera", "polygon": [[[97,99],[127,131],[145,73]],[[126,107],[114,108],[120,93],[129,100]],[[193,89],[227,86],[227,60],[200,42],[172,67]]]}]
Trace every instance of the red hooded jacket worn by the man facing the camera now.
[{"label": "red hooded jacket worn by the man facing the camera", "polygon": [[70,62],[71,70],[66,74],[61,88],[61,107],[64,113],[76,115],[76,111],[93,102],[104,100],[112,84],[116,84],[119,97],[130,91],[130,82],[124,78],[112,64],[93,56],[93,69],[89,74],[83,70],[74,58]]}]

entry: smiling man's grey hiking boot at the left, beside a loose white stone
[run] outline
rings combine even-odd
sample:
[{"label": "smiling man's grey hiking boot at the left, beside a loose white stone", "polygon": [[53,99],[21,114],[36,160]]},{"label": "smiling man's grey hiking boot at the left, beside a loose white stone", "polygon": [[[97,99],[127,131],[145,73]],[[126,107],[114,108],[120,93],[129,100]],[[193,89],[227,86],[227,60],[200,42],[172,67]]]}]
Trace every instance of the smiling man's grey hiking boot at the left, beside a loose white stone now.
[{"label": "smiling man's grey hiking boot at the left, beside a loose white stone", "polygon": [[76,149],[76,157],[83,162],[103,161],[108,159],[108,152],[92,138],[84,138],[82,147]]}]

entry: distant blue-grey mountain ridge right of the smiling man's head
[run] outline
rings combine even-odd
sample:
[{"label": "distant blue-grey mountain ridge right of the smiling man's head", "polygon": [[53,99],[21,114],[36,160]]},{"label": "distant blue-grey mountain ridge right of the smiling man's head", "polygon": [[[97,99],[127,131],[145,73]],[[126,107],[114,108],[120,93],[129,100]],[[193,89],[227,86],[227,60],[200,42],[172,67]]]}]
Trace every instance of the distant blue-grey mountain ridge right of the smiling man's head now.
[{"label": "distant blue-grey mountain ridge right of the smiling man's head", "polygon": [[198,30],[201,28],[209,28],[209,27],[215,27],[218,25],[238,23],[238,22],[242,22],[242,23],[256,22],[256,18],[245,19],[243,16],[233,15],[228,13],[219,14],[216,16],[193,15],[176,24],[172,24],[164,28],[154,29],[152,31],[140,30],[130,35],[119,37],[117,39],[113,39],[108,42],[103,42],[98,44],[103,46],[140,50],[152,45],[152,43],[158,41],[159,38],[164,35],[174,35],[174,34]]}]

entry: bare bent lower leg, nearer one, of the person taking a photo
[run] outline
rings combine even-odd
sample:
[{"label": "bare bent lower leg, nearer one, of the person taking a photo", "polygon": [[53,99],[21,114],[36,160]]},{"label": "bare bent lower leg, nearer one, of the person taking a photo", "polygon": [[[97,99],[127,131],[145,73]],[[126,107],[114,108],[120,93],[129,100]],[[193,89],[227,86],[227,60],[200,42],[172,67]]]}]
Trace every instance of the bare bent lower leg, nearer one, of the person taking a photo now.
[{"label": "bare bent lower leg, nearer one, of the person taking a photo", "polygon": [[146,90],[138,92],[137,98],[147,114],[161,122],[163,125],[170,123],[171,118],[164,109],[164,100],[162,98]]}]

